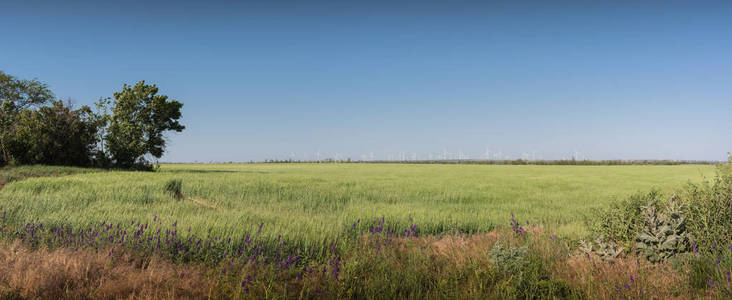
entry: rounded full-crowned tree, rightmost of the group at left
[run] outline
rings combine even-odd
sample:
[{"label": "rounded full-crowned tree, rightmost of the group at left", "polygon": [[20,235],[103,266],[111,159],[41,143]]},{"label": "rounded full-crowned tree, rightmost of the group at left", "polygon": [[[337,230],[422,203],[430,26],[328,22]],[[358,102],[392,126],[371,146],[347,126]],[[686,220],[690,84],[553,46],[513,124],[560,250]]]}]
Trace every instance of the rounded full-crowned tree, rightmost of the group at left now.
[{"label": "rounded full-crowned tree, rightmost of the group at left", "polygon": [[106,149],[117,167],[147,164],[146,156],[160,158],[165,151],[166,131],[181,132],[178,120],[183,103],[158,94],[158,87],[140,81],[114,93]]}]

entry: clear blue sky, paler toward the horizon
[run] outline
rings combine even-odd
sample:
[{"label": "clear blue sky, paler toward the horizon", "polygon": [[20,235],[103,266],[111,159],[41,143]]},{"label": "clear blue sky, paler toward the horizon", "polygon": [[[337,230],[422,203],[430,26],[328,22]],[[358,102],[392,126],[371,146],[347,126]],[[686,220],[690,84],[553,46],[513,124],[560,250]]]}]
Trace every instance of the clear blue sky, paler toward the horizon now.
[{"label": "clear blue sky, paler toward the horizon", "polygon": [[157,84],[163,161],[726,159],[732,2],[601,2],[2,1],[0,70]]}]

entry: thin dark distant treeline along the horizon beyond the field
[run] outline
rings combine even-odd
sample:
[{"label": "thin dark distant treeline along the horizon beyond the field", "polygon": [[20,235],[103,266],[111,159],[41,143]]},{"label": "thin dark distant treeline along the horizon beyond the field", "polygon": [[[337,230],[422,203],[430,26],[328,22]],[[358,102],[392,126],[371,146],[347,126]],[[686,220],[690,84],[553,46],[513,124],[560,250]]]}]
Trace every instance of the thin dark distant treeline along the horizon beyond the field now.
[{"label": "thin dark distant treeline along the horizon beyond the field", "polygon": [[[217,162],[220,164],[238,164],[247,162]],[[560,160],[525,160],[525,159],[512,159],[512,160],[480,160],[480,159],[449,159],[449,160],[336,160],[336,159],[323,159],[323,160],[294,160],[294,159],[268,159],[263,162],[250,161],[248,163],[303,163],[303,164],[317,164],[317,163],[357,163],[357,164],[460,164],[460,165],[559,165],[559,166],[627,166],[627,165],[714,165],[722,163],[721,161],[710,161],[710,160],[573,160],[573,159],[560,159]]]}]

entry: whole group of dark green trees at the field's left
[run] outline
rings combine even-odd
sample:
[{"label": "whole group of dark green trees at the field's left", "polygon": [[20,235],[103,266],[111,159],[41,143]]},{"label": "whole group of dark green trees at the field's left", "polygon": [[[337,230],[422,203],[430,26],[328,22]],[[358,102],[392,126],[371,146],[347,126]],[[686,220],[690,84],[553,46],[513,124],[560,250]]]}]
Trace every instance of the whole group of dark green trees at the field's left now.
[{"label": "whole group of dark green trees at the field's left", "polygon": [[140,81],[95,109],[57,99],[48,85],[0,71],[0,167],[46,164],[150,169],[165,132],[181,132],[183,103]]}]

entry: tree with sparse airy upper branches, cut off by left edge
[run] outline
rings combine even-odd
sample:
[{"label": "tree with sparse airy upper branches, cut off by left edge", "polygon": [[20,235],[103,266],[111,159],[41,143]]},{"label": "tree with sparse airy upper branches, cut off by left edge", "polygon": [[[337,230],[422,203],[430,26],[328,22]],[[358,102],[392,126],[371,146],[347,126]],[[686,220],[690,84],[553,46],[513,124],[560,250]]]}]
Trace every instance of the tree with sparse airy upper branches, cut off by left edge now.
[{"label": "tree with sparse airy upper branches, cut off by left edge", "polygon": [[10,162],[10,145],[18,129],[21,111],[54,99],[48,86],[38,80],[22,80],[0,71],[0,165]]}]

